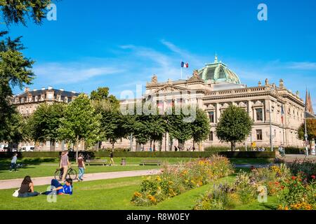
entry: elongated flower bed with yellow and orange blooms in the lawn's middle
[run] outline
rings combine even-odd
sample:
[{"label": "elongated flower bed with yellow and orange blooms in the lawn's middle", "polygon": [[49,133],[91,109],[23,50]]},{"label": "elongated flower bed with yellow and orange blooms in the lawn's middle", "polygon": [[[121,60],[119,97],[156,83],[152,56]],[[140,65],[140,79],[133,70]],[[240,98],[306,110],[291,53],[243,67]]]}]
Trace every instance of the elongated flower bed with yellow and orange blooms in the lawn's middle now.
[{"label": "elongated flower bed with yellow and orange blooms in the lawn's middle", "polygon": [[131,203],[136,206],[151,206],[166,198],[180,195],[213,180],[232,174],[229,160],[223,156],[185,162],[177,166],[165,165],[159,176],[150,176],[140,184]]}]

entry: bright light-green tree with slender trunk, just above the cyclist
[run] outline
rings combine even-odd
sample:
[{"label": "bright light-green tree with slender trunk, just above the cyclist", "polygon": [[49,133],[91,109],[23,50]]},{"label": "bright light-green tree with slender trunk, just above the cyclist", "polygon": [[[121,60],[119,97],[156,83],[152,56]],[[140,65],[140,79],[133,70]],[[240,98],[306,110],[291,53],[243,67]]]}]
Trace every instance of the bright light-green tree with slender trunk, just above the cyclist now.
[{"label": "bright light-green tree with slender trunk, just above the cyclist", "polygon": [[79,141],[86,141],[89,145],[100,141],[100,115],[85,94],[80,94],[67,106],[58,131],[61,139],[77,145],[76,161]]}]

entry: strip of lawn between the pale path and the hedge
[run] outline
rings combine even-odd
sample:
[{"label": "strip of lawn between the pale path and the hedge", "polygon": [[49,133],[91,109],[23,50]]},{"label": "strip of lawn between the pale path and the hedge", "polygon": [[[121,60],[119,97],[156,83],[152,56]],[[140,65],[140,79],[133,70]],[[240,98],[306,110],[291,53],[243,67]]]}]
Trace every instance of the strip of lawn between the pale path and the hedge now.
[{"label": "strip of lawn between the pale path and the hedge", "polygon": [[[140,169],[157,169],[159,166],[140,166],[142,160],[157,160],[155,158],[126,158],[127,165],[121,166],[121,158],[114,158],[116,166],[103,166],[103,165],[86,165],[86,174],[100,173],[100,172],[120,172],[129,170]],[[187,162],[189,160],[195,160],[191,158],[159,158],[162,162],[169,162],[170,164],[176,164],[178,162]],[[230,159],[235,164],[266,164],[271,161],[268,159]],[[40,176],[53,176],[55,169],[58,168],[58,160],[54,158],[23,158],[18,160],[18,163],[26,165],[22,169],[18,169],[18,172],[9,172],[11,160],[0,160],[0,180],[5,179],[21,179],[24,176],[40,177]],[[77,165],[72,162],[72,167],[77,169]]]}]

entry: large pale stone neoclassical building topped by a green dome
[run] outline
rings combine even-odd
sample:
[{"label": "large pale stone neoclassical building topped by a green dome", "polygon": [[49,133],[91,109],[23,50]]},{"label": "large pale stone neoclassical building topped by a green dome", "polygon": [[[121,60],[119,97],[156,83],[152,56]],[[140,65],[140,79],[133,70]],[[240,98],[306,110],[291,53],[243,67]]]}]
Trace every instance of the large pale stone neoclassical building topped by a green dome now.
[{"label": "large pale stone neoclassical building topped by a green dome", "polygon": [[[257,86],[247,87],[228,66],[218,62],[217,57],[213,63],[195,70],[192,77],[187,80],[159,82],[154,75],[151,82],[146,85],[143,99],[157,102],[162,109],[183,102],[192,104],[193,101],[204,109],[209,115],[211,130],[209,139],[200,147],[202,150],[207,146],[223,146],[216,137],[216,125],[221,113],[230,104],[244,108],[254,120],[251,135],[240,146],[246,144],[250,147],[251,142],[256,142],[256,146],[269,147],[271,125],[274,147],[281,144],[303,147],[303,141],[298,139],[297,130],[304,121],[305,104],[298,92],[293,93],[288,90],[282,79],[279,80],[278,85],[269,83],[266,79],[263,83],[259,81]],[[138,100],[142,99],[124,100],[121,105]],[[171,142],[166,134],[156,147],[161,148],[162,151],[173,151],[173,146],[177,144],[176,141]],[[130,146],[130,139],[121,139],[115,147],[130,148]],[[192,141],[187,141],[185,148],[186,146],[192,146]],[[110,144],[104,142],[103,147],[110,148]],[[150,148],[149,144],[138,146],[133,139],[133,151],[143,149],[146,151],[148,148]]]}]

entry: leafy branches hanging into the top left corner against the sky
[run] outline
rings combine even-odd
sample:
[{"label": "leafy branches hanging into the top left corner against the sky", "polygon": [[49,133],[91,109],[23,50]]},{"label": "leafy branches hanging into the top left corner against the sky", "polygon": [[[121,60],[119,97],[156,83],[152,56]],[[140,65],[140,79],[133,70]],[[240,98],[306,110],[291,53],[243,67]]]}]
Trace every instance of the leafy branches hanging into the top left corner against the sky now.
[{"label": "leafy branches hanging into the top left corner against the sky", "polygon": [[26,26],[25,18],[32,18],[35,24],[40,25],[50,3],[51,0],[1,0],[1,18],[6,25],[22,23]]}]

